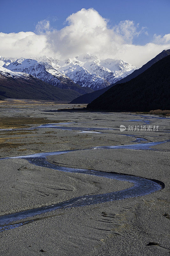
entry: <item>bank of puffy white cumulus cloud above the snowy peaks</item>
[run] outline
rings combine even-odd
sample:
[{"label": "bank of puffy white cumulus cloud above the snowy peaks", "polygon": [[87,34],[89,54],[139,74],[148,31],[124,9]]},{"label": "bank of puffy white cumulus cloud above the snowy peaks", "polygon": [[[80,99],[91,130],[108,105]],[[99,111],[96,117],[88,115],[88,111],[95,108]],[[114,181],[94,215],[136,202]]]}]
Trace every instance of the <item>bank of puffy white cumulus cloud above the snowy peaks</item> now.
[{"label": "bank of puffy white cumulus cloud above the snowy peaks", "polygon": [[113,28],[94,9],[71,14],[65,27],[56,30],[48,20],[39,21],[34,32],[0,33],[0,54],[7,57],[47,55],[57,59],[90,52],[99,58],[122,59],[138,67],[170,48],[170,34],[154,35],[152,42],[135,45],[133,40],[146,28],[131,20],[120,21]]}]

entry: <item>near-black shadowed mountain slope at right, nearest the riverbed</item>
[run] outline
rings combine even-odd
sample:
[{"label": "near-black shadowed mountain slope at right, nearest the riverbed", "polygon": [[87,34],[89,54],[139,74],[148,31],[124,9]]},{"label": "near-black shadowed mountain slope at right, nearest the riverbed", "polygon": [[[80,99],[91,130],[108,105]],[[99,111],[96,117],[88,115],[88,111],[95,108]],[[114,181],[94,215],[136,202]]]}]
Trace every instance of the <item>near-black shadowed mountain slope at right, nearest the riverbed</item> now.
[{"label": "near-black shadowed mountain slope at right, nearest the riverbed", "polygon": [[170,55],[128,82],[116,84],[87,105],[91,110],[170,109]]}]

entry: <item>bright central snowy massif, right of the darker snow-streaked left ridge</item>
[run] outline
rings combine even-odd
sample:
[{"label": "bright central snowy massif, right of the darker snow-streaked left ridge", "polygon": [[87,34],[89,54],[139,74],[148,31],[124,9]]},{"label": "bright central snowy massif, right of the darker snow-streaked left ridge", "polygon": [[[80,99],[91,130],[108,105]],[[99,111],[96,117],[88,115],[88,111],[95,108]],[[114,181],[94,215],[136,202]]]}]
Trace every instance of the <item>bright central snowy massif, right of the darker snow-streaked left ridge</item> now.
[{"label": "bright central snowy massif, right of the darker snow-streaked left ridge", "polygon": [[123,60],[100,60],[89,53],[58,61],[57,64],[60,66],[57,70],[62,74],[70,77],[75,83],[93,90],[105,88],[137,69]]}]

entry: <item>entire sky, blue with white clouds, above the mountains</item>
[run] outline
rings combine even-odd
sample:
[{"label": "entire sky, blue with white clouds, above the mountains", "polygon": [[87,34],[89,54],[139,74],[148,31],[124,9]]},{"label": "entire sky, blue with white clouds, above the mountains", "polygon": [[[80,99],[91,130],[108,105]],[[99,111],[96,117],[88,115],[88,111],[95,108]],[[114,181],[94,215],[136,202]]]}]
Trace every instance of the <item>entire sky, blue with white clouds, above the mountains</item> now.
[{"label": "entire sky, blue with white clouds, above the mountains", "polygon": [[139,67],[170,48],[170,0],[0,1],[1,56],[89,52]]}]

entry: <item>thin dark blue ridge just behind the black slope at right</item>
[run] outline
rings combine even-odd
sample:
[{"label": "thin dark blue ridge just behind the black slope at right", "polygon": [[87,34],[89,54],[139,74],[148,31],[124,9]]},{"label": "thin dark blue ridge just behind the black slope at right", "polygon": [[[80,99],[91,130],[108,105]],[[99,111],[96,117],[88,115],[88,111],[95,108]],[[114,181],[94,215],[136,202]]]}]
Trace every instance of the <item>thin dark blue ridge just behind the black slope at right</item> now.
[{"label": "thin dark blue ridge just behind the black slope at right", "polygon": [[154,63],[156,63],[157,61],[161,60],[162,58],[168,56],[169,54],[170,54],[170,49],[164,50],[164,51],[160,52],[152,60],[150,60],[146,64],[144,64],[141,68],[134,70],[131,74],[129,74],[128,76],[115,82],[114,84],[109,85],[107,88],[103,88],[98,91],[94,91],[94,92],[79,96],[78,98],[72,100],[70,103],[74,103],[74,104],[75,103],[91,103],[93,100],[98,98],[101,94],[103,94],[104,92],[109,90],[112,86],[130,81],[131,79],[135,78],[136,76],[142,74],[146,69],[150,68]]}]

